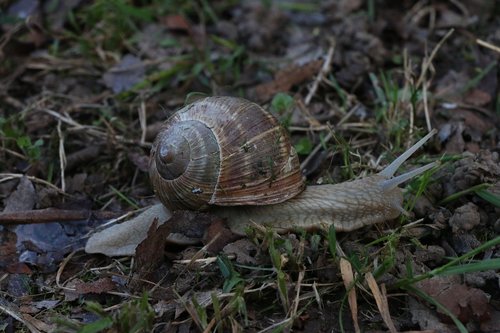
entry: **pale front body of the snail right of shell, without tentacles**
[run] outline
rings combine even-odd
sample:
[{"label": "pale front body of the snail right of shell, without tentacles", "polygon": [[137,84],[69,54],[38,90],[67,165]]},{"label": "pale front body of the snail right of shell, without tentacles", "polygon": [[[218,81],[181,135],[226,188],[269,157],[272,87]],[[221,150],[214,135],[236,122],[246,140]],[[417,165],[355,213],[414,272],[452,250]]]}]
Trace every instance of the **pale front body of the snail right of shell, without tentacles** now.
[{"label": "pale front body of the snail right of shell, without tentacles", "polygon": [[[351,231],[365,225],[394,219],[403,212],[403,195],[396,187],[384,191],[377,175],[339,184],[308,186],[285,202],[267,206],[215,208],[240,235],[250,223],[263,224],[278,232],[291,228],[319,229],[335,226]],[[250,223],[249,223],[250,222]]]}]

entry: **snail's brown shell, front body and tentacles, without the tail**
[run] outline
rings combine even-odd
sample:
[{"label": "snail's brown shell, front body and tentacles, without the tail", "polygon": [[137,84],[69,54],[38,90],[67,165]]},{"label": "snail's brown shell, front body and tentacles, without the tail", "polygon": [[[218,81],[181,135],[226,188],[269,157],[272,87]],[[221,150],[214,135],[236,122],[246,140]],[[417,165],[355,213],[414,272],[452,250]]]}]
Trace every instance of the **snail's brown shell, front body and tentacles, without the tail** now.
[{"label": "snail's brown shell, front body and tentacles, without the tail", "polygon": [[405,213],[401,183],[436,163],[394,177],[431,131],[377,174],[305,186],[286,130],[259,105],[207,97],[162,126],[150,155],[154,191],[169,210],[210,209],[236,234],[252,223],[279,232],[333,225],[351,231]]}]

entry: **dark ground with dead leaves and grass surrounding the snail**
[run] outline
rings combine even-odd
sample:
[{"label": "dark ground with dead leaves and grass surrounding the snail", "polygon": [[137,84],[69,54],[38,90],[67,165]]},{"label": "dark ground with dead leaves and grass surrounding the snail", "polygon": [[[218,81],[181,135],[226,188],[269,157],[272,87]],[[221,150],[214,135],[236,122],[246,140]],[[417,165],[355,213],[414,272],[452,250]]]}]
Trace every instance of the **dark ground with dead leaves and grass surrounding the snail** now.
[{"label": "dark ground with dead leaves and grass surrounding the snail", "polygon": [[[7,0],[0,32],[0,332],[500,332],[500,2]],[[178,212],[86,253],[157,202],[162,122],[212,95],[273,113],[308,185],[432,129],[398,174],[438,163],[351,232]]]}]

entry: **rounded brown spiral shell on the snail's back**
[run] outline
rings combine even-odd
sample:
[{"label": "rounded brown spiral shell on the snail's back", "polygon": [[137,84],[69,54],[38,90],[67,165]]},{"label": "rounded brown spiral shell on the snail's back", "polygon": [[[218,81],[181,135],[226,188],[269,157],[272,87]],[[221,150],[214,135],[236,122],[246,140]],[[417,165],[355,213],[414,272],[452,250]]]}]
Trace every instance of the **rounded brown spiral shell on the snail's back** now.
[{"label": "rounded brown spiral shell on the snail's back", "polygon": [[274,204],[304,189],[286,130],[259,105],[234,97],[204,98],[169,118],[151,149],[150,177],[171,209]]}]

